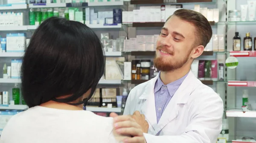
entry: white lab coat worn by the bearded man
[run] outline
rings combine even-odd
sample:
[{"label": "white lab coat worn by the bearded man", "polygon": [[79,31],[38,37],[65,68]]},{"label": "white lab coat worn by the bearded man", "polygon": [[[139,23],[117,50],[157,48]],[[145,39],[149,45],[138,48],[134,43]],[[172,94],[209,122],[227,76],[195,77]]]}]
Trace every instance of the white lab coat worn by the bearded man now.
[{"label": "white lab coat worn by the bearded man", "polygon": [[190,71],[164,110],[159,123],[155,110],[157,77],[131,90],[124,115],[136,110],[148,121],[147,143],[216,143],[221,132],[223,101]]}]

